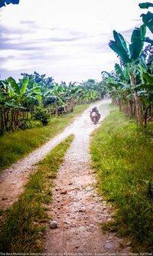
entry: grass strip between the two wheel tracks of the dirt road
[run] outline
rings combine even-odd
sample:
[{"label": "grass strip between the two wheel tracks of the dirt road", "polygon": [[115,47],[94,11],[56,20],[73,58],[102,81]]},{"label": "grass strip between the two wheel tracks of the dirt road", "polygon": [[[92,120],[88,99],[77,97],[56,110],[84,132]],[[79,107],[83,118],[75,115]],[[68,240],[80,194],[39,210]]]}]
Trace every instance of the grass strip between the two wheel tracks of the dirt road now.
[{"label": "grass strip between the two wheel tracks of the dirt road", "polygon": [[47,205],[52,197],[51,189],[57,169],[63,162],[73,136],[69,136],[37,164],[24,193],[5,213],[0,234],[1,252],[37,253],[43,251]]}]

